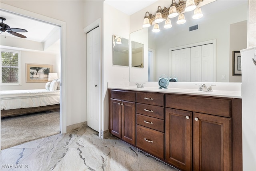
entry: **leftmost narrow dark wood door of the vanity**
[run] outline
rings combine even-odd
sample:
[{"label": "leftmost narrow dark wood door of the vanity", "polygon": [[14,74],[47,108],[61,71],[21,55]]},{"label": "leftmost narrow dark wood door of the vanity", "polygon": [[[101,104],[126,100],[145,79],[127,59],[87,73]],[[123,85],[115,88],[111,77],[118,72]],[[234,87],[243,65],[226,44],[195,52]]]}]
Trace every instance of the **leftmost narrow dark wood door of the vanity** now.
[{"label": "leftmost narrow dark wood door of the vanity", "polygon": [[122,101],[110,99],[109,130],[116,137],[121,138],[122,129]]}]

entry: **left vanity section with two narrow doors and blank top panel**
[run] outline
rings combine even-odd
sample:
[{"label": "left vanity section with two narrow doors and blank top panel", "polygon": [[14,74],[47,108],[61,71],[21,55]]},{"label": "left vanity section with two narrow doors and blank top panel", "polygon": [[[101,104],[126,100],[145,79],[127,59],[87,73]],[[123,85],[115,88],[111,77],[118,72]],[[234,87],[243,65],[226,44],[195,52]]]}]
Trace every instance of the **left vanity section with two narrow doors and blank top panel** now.
[{"label": "left vanity section with two narrow doors and blank top panel", "polygon": [[135,92],[111,90],[109,95],[110,133],[135,145]]}]

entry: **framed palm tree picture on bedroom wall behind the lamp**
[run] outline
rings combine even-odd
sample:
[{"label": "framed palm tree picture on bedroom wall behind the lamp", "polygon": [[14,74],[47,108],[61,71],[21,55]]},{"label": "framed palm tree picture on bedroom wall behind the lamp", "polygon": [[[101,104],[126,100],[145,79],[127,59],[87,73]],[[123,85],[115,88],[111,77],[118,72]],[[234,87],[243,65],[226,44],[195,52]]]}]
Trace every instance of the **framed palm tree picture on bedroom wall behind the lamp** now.
[{"label": "framed palm tree picture on bedroom wall behind the lamp", "polygon": [[53,65],[26,64],[26,83],[48,82],[49,72],[53,72]]}]

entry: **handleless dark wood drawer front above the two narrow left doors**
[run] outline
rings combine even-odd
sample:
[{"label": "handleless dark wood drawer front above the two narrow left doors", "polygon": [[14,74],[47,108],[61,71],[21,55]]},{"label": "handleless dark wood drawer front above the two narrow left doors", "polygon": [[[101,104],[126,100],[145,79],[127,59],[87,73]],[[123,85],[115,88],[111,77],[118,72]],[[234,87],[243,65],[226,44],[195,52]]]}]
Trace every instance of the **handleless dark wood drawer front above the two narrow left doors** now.
[{"label": "handleless dark wood drawer front above the two narrow left doors", "polygon": [[110,98],[135,102],[136,101],[136,93],[134,91],[111,89],[110,90]]}]

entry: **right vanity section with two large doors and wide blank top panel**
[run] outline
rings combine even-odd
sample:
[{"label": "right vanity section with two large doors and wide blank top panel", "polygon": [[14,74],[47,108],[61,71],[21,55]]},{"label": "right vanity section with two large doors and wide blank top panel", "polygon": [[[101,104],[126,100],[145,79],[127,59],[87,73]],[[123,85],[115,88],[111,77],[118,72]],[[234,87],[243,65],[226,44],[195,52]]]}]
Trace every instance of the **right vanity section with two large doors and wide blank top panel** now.
[{"label": "right vanity section with two large doors and wide blank top panel", "polygon": [[242,171],[241,99],[165,97],[168,163],[185,171]]}]

